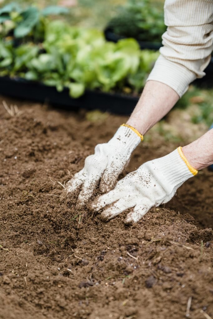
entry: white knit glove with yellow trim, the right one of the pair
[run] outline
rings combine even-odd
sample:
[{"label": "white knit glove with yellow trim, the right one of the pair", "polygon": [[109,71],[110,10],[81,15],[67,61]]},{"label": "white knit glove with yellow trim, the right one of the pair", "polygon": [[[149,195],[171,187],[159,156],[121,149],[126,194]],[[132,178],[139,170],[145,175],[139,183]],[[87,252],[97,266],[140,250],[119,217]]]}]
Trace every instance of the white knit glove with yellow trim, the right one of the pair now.
[{"label": "white knit glove with yellow trim, the right one of the pair", "polygon": [[[126,224],[132,224],[140,220],[151,207],[167,203],[176,190],[196,174],[197,170],[189,164],[179,147],[126,175],[113,190],[99,196],[91,204],[91,208],[99,212],[103,210],[101,217],[107,220],[134,207],[125,219]],[[108,204],[111,205],[105,208]]]}]

